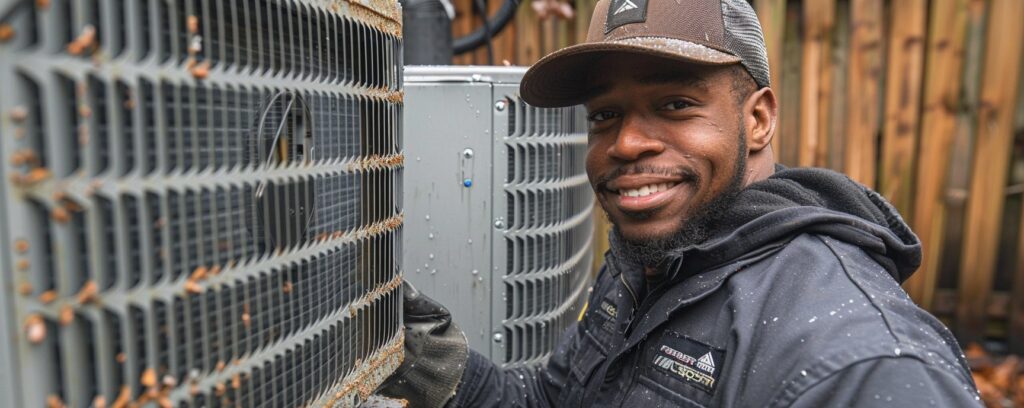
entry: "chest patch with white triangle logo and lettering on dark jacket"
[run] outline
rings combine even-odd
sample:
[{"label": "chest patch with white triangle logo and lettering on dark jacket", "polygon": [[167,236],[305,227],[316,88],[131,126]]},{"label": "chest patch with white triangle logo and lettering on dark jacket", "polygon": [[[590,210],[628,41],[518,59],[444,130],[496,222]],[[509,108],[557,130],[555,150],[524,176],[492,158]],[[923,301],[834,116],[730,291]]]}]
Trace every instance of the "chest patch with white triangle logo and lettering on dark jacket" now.
[{"label": "chest patch with white triangle logo and lettering on dark jacket", "polygon": [[724,362],[724,350],[667,333],[657,344],[651,363],[669,376],[714,395]]}]

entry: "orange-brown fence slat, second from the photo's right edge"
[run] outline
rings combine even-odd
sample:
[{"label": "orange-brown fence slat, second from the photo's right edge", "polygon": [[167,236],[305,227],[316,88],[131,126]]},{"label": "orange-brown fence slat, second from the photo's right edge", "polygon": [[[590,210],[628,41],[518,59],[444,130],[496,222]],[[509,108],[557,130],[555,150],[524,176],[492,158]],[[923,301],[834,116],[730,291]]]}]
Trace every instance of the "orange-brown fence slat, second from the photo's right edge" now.
[{"label": "orange-brown fence slat, second from the photo's right edge", "polygon": [[946,217],[946,169],[956,132],[956,112],[967,36],[968,0],[933,0],[928,35],[925,99],[918,162],[918,194],[913,230],[921,238],[924,259],[906,282],[910,296],[930,308],[935,296]]}]

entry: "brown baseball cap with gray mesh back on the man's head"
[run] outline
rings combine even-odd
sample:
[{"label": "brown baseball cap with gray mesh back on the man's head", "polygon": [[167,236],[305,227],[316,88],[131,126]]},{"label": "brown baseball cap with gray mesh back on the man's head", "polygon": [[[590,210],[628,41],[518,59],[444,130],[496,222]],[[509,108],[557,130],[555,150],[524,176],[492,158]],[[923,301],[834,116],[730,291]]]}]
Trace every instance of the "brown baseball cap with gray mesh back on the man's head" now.
[{"label": "brown baseball cap with gray mesh back on the man's head", "polygon": [[769,85],[764,34],[745,0],[600,0],[587,41],[537,62],[519,93],[541,108],[582,104],[594,63],[609,52],[706,66],[741,64],[759,87]]}]

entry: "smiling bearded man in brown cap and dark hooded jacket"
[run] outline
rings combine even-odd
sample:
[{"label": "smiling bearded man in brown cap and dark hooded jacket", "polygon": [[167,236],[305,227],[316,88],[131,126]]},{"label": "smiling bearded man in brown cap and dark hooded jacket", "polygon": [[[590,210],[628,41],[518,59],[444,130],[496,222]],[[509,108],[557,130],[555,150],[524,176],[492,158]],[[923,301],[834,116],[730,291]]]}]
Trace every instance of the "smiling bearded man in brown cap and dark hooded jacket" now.
[{"label": "smiling bearded man in brown cap and dark hooded jacket", "polygon": [[614,225],[577,326],[502,370],[407,287],[413,406],[977,406],[956,341],[900,288],[921,245],[877,193],[775,164],[777,101],[742,0],[601,0],[588,40],[525,75],[585,104],[587,172]]}]

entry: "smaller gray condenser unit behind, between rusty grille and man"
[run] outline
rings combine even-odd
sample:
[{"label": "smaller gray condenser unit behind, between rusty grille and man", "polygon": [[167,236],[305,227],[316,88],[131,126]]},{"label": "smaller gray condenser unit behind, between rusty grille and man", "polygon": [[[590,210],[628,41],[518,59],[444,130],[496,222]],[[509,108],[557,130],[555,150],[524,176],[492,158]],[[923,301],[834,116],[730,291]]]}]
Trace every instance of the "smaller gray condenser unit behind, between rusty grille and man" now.
[{"label": "smaller gray condenser unit behind, between rusty grille and man", "polygon": [[406,69],[406,279],[504,366],[552,352],[593,258],[584,110],[526,105],[524,72]]}]

